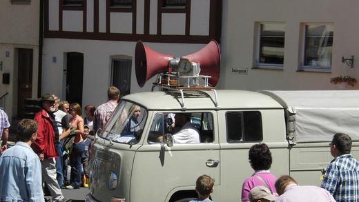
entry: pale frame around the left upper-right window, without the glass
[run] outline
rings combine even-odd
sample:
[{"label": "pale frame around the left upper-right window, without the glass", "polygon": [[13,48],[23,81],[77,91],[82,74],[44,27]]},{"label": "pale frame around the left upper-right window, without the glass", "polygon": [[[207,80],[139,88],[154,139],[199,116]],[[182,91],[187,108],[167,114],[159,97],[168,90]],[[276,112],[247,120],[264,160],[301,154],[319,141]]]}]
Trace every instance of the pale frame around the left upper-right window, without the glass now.
[{"label": "pale frame around the left upper-right window, without the glass", "polygon": [[283,70],[284,68],[284,61],[283,64],[271,64],[271,63],[260,63],[260,37],[261,37],[261,26],[263,24],[274,24],[274,25],[283,25],[284,28],[284,54],[285,54],[285,39],[287,38],[287,24],[283,21],[263,21],[257,22],[255,25],[255,61],[254,61],[254,69],[271,69],[271,70]]}]

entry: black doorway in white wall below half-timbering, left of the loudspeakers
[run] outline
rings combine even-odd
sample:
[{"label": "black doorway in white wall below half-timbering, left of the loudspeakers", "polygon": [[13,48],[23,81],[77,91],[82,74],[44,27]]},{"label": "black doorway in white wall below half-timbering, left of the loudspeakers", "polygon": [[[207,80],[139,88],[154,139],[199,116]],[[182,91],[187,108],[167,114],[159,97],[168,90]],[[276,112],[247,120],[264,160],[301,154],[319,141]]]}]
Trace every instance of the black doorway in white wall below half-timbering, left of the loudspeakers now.
[{"label": "black doorway in white wall below half-timbering, left of the loudspeakers", "polygon": [[66,101],[82,106],[82,83],[84,81],[84,54],[68,52],[66,71]]}]

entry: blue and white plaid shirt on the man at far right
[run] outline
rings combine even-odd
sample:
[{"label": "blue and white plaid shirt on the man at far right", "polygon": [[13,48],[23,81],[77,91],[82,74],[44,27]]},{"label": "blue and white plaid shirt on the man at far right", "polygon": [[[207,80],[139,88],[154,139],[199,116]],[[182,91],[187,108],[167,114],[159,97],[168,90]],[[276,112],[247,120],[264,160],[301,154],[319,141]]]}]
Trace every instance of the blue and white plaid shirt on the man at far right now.
[{"label": "blue and white plaid shirt on the man at far right", "polygon": [[359,201],[359,161],[351,154],[336,157],[327,167],[322,188],[328,190],[336,201]]}]

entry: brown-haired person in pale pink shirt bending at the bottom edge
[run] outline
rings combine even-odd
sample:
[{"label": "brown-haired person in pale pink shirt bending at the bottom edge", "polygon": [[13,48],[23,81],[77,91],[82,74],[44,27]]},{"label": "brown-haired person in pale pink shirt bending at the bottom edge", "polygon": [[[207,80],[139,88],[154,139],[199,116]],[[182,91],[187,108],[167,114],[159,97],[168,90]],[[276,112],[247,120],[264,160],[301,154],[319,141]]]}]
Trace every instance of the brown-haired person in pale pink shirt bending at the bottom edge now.
[{"label": "brown-haired person in pale pink shirt bending at the bottom edge", "polygon": [[291,176],[284,175],[275,181],[275,189],[280,195],[275,201],[286,202],[336,202],[333,196],[317,186],[300,186]]}]

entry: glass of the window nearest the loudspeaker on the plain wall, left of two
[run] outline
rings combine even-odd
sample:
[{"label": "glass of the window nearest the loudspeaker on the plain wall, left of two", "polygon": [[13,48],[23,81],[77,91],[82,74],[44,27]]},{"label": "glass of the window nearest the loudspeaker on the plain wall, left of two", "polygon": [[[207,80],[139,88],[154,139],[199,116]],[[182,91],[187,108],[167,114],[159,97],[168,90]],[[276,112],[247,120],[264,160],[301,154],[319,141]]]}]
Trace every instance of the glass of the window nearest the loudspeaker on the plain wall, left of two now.
[{"label": "glass of the window nearest the loudspeaker on the plain wall, left of two", "polygon": [[285,25],[280,23],[260,23],[257,67],[279,66],[284,61]]}]

